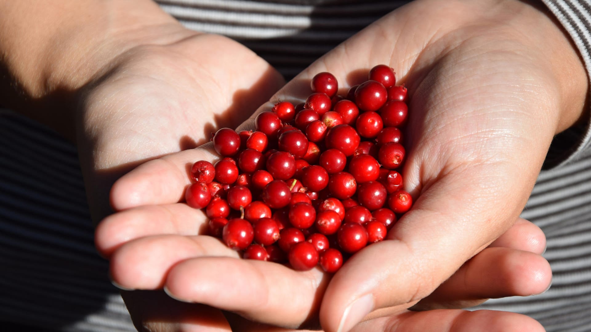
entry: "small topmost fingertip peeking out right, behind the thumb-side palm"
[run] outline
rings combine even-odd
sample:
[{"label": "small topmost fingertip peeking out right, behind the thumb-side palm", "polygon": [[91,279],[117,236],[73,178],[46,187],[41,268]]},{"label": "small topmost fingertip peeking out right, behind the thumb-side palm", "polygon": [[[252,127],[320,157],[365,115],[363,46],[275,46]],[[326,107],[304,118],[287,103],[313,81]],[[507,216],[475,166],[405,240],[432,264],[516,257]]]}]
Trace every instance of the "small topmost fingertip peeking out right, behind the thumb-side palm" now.
[{"label": "small topmost fingertip peeking out right, behind the thumb-side palm", "polygon": [[546,236],[536,224],[518,218],[517,222],[489,247],[505,247],[541,254],[546,249]]}]

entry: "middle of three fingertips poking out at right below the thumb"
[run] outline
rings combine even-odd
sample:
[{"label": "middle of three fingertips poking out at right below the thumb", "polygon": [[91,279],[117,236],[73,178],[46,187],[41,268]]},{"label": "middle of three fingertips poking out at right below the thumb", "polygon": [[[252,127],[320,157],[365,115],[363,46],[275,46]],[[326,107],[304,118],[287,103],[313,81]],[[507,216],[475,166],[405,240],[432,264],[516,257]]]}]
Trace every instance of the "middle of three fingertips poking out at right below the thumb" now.
[{"label": "middle of three fingertips poking out at right below the thumb", "polygon": [[489,298],[541,294],[551,280],[550,263],[540,255],[509,248],[486,248],[413,310],[467,308]]}]

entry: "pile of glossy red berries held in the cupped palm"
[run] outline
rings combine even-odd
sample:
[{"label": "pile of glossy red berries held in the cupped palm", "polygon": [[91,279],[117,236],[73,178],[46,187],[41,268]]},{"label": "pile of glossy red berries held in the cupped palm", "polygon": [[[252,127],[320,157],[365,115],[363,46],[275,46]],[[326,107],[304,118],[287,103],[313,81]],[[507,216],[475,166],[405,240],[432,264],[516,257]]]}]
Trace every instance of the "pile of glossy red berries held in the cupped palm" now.
[{"label": "pile of glossy red berries held in the cupped palm", "polygon": [[317,74],[305,103],[276,103],[256,116],[256,131],[219,129],[222,159],[191,167],[187,204],[205,209],[210,234],[244,258],[336,272],[410,209],[395,171],[407,89],[385,65],[346,97],[337,87],[333,74]]}]

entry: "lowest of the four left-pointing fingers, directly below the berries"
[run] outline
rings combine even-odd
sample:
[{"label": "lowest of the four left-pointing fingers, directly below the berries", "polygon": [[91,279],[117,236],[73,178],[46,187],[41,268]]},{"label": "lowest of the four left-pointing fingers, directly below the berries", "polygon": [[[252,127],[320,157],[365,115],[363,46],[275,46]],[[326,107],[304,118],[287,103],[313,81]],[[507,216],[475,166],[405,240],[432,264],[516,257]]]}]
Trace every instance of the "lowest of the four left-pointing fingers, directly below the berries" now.
[{"label": "lowest of the four left-pointing fingers, directly below the berries", "polygon": [[264,261],[202,257],[170,269],[165,290],[180,301],[233,311],[252,321],[299,328],[317,326],[317,310],[328,281],[329,276],[319,268],[300,272]]}]

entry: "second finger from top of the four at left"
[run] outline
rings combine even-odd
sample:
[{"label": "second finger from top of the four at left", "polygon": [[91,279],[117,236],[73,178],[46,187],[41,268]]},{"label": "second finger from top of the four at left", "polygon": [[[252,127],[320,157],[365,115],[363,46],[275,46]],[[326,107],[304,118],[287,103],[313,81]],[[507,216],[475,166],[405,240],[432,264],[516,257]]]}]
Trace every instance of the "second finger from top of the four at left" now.
[{"label": "second finger from top of the four at left", "polygon": [[95,246],[104,257],[125,242],[151,235],[203,235],[206,216],[187,204],[140,206],[106,217],[95,230]]}]

